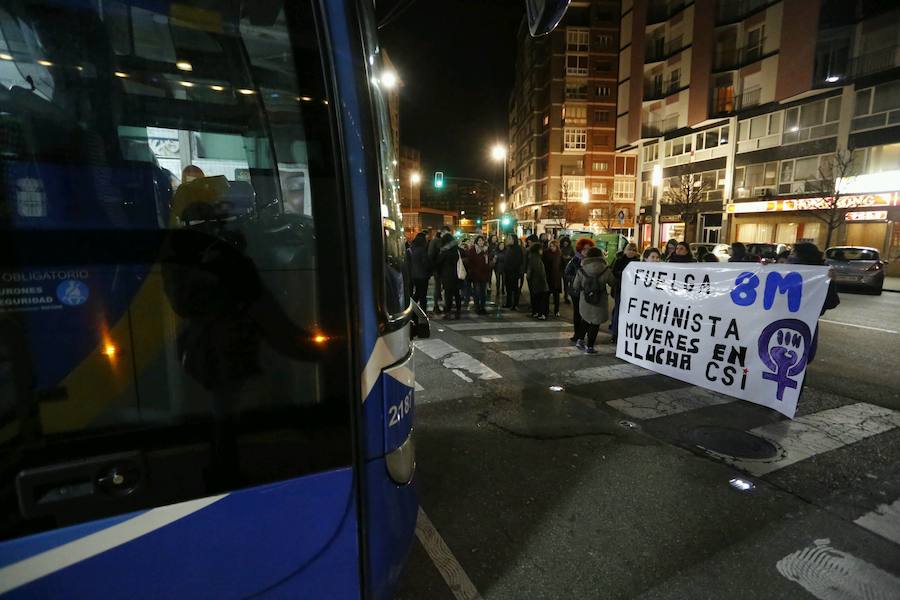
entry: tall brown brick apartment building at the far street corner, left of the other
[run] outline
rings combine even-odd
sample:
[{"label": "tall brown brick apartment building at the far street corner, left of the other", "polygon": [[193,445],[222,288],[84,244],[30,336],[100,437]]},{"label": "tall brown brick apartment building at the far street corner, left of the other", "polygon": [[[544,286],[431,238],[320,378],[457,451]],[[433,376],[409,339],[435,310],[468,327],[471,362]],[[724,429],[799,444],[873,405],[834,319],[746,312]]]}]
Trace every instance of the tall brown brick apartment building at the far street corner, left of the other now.
[{"label": "tall brown brick apartment building at the far street corner, left of the other", "polygon": [[508,212],[520,233],[634,228],[637,155],[616,153],[619,3],[573,1],[548,36],[519,30]]}]

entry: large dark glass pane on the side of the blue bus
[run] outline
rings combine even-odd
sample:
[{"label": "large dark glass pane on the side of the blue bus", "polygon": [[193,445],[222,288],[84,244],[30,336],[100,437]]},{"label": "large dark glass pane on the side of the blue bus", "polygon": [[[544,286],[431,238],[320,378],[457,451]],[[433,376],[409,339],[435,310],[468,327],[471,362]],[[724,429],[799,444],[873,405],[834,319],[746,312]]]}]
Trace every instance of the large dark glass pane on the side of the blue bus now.
[{"label": "large dark glass pane on the side of the blue bus", "polygon": [[351,463],[311,3],[140,4],[0,9],[0,539]]}]

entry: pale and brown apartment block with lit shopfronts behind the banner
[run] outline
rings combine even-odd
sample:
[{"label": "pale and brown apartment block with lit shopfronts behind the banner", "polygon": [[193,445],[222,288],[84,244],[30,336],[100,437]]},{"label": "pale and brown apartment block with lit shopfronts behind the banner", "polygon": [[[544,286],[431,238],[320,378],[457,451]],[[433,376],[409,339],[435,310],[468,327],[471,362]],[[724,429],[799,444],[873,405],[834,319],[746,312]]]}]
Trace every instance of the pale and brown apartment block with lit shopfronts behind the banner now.
[{"label": "pale and brown apartment block with lit shopfronts behind the banner", "polygon": [[[621,17],[616,146],[639,155],[645,245],[807,240],[900,254],[895,3],[624,0]],[[852,159],[843,177],[836,157]],[[665,201],[683,177],[699,192],[687,209]],[[822,218],[835,187],[853,209],[837,228]]]}]

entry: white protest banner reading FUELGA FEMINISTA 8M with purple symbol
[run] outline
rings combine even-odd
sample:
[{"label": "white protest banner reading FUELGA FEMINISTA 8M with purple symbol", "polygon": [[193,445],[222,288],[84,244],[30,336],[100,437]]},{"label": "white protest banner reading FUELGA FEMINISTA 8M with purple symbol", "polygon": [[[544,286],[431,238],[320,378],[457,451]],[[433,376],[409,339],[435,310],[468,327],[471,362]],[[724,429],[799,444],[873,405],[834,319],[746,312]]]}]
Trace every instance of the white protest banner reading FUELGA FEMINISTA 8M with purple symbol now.
[{"label": "white protest banner reading FUELGA FEMINISTA 8M with purple symbol", "polygon": [[616,356],[793,418],[828,267],[632,262]]}]

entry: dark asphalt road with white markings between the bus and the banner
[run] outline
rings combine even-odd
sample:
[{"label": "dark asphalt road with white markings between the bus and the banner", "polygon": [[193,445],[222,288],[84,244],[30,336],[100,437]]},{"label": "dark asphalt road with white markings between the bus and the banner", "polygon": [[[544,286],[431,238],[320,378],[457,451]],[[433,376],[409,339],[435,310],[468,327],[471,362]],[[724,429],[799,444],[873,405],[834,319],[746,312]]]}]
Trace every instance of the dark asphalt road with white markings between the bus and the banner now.
[{"label": "dark asphalt road with white markings between the bus and the banner", "polygon": [[[572,353],[568,307],[435,319],[397,597],[900,598],[900,294],[841,300],[790,425]],[[734,454],[698,445],[723,432]],[[760,437],[774,456],[735,458]]]}]

